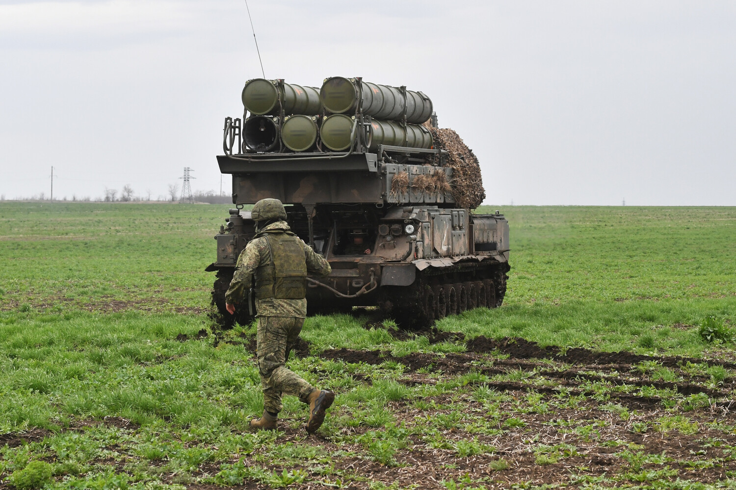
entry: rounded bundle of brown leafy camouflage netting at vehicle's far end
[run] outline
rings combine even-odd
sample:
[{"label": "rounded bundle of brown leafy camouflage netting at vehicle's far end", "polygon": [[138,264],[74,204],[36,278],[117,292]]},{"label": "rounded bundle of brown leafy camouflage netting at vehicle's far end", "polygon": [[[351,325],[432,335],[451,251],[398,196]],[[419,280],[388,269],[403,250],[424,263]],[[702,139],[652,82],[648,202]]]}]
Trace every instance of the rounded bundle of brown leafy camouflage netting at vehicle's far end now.
[{"label": "rounded bundle of brown leafy camouflage netting at vehicle's far end", "polygon": [[434,145],[447,151],[446,165],[453,169],[450,192],[457,205],[467,209],[480,206],[486,198],[486,190],[483,188],[481,166],[473,150],[467,147],[453,129],[433,128],[429,122],[424,126],[431,131]]}]

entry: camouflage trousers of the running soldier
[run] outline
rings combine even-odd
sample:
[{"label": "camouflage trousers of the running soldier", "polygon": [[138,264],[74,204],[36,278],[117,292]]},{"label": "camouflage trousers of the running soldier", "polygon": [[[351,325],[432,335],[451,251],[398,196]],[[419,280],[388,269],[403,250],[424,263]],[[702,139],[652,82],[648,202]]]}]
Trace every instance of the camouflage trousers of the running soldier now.
[{"label": "camouflage trousers of the running soldier", "polygon": [[286,369],[286,356],[297,341],[304,325],[303,318],[258,317],[258,372],[261,373],[263,406],[267,411],[281,411],[281,395],[299,397],[309,403],[307,397],[314,386]]}]

